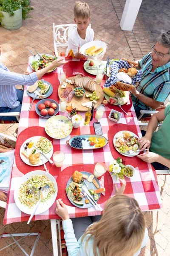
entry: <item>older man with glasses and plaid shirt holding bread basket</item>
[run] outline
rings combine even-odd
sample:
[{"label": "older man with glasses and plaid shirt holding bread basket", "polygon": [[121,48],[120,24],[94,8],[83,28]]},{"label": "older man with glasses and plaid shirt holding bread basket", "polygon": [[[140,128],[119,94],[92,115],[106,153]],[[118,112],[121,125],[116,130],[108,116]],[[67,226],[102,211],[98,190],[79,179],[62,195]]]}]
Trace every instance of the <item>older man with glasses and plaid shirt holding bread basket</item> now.
[{"label": "older man with glasses and plaid shirt holding bread basket", "polygon": [[136,116],[140,110],[158,108],[170,94],[170,30],[162,32],[137,69],[143,70],[141,82],[131,90]]}]

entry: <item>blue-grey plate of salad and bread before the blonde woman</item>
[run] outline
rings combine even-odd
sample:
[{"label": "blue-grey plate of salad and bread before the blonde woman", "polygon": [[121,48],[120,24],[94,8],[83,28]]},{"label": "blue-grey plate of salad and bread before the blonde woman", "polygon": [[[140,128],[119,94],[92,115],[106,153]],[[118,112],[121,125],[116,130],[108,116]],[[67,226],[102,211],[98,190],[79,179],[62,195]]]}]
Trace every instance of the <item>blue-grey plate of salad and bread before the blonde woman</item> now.
[{"label": "blue-grey plate of salad and bread before the blonde woman", "polygon": [[97,180],[97,178],[94,177],[94,175],[92,175],[90,172],[81,173],[82,180],[77,183],[73,181],[72,177],[70,177],[65,190],[67,192],[68,199],[74,206],[77,206],[79,208],[89,208],[93,206],[93,204],[91,204],[91,202],[88,200],[88,197],[83,194],[82,186],[87,186],[89,193],[92,197],[94,197],[94,200],[96,202],[99,200],[101,193],[95,192],[98,192],[97,190],[101,187],[99,184],[99,180]]}]

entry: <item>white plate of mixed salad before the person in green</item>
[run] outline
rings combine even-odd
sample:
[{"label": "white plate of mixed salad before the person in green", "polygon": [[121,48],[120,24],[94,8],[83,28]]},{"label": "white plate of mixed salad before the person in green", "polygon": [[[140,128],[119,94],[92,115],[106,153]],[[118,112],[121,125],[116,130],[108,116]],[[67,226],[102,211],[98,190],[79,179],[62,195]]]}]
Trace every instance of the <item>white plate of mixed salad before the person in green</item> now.
[{"label": "white plate of mixed salad before the person in green", "polygon": [[134,157],[140,153],[138,139],[131,131],[119,131],[113,138],[113,145],[120,154]]}]

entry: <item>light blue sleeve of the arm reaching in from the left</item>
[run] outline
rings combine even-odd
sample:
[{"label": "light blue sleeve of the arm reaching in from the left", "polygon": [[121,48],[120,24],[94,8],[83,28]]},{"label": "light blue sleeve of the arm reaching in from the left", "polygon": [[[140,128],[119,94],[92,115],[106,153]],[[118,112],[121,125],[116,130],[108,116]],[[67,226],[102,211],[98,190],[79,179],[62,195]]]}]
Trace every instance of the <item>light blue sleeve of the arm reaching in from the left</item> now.
[{"label": "light blue sleeve of the arm reaching in from the left", "polygon": [[33,85],[37,80],[35,72],[27,76],[0,68],[0,85]]}]

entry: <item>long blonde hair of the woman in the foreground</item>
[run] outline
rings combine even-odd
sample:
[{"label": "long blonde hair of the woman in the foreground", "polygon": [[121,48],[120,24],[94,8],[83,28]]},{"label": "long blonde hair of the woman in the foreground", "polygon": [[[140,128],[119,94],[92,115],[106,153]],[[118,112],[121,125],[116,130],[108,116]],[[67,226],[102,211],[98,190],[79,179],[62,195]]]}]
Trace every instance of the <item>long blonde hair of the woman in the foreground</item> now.
[{"label": "long blonde hair of the woman in the foreground", "polygon": [[144,214],[137,201],[115,195],[106,202],[101,220],[88,227],[82,236],[82,241],[86,240],[86,254],[88,241],[93,237],[94,256],[133,256],[141,247],[145,228]]}]

